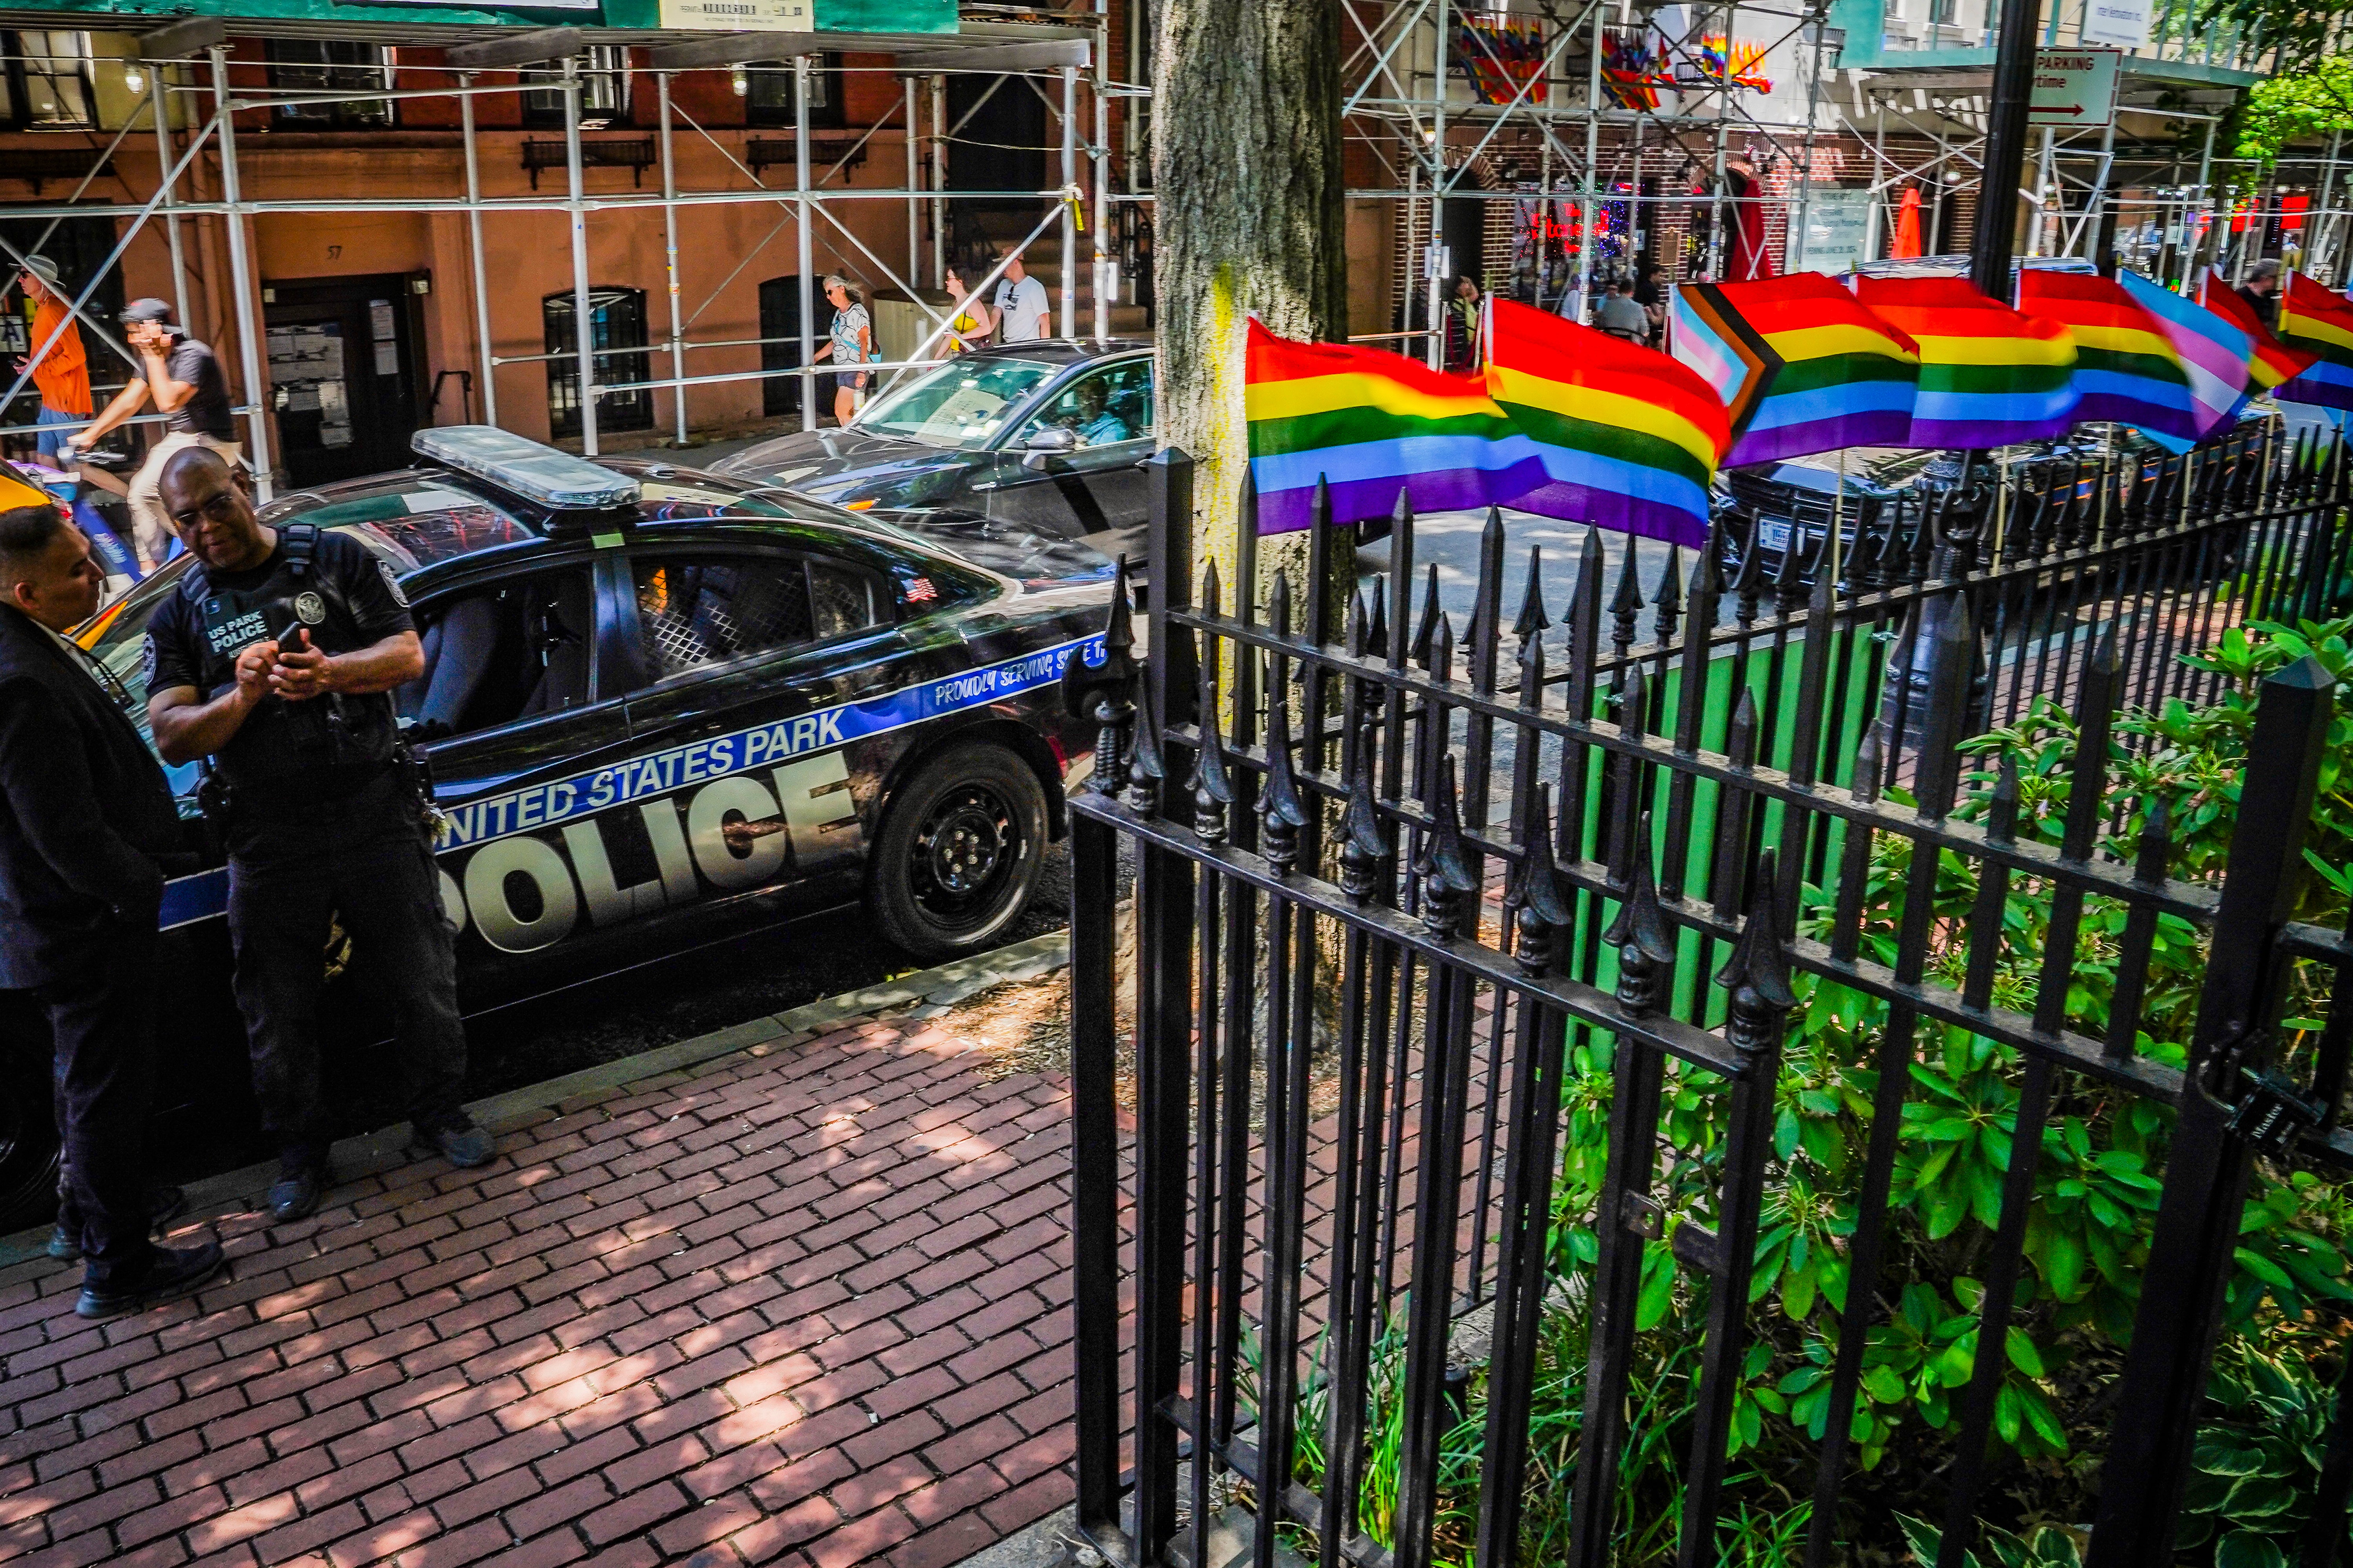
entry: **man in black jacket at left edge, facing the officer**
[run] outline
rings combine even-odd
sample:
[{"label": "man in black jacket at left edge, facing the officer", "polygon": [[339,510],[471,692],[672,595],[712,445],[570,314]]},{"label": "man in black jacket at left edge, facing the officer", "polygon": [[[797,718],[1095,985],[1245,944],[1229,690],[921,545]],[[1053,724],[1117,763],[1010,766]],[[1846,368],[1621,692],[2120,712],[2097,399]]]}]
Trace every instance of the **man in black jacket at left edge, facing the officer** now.
[{"label": "man in black jacket at left edge, facing the officer", "polygon": [[56,1041],[82,1316],[188,1295],[221,1248],[148,1241],[155,917],[179,813],[162,769],[64,637],[99,607],[89,541],[52,505],[0,510],[0,987]]}]

